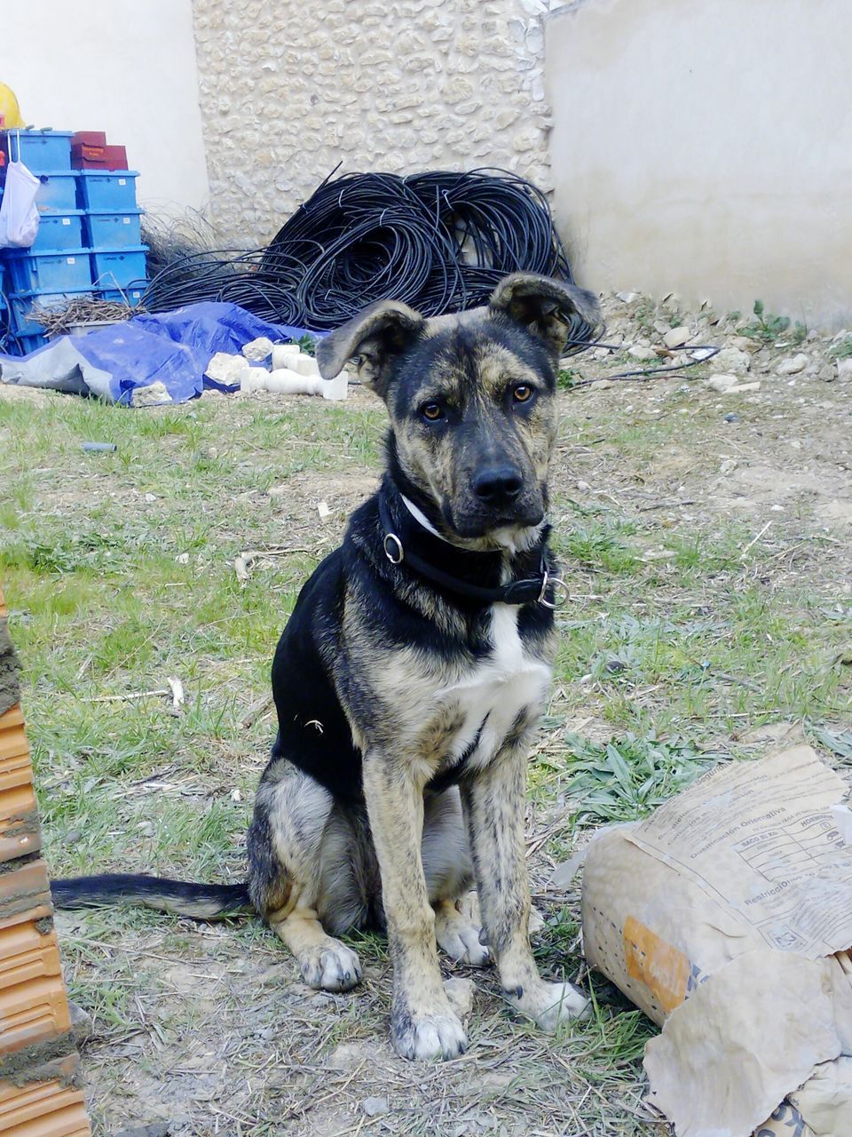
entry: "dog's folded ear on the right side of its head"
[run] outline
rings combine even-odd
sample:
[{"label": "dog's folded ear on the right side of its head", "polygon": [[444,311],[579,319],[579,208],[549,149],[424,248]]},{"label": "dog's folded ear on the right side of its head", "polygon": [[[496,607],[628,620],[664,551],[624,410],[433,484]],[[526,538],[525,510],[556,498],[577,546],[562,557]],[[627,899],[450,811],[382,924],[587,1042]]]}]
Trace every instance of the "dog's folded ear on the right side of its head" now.
[{"label": "dog's folded ear on the right side of its head", "polygon": [[565,348],[571,325],[577,323],[573,316],[579,316],[592,326],[601,318],[594,292],[533,273],[506,276],[491,293],[488,308],[524,324],[544,340],[554,355]]}]

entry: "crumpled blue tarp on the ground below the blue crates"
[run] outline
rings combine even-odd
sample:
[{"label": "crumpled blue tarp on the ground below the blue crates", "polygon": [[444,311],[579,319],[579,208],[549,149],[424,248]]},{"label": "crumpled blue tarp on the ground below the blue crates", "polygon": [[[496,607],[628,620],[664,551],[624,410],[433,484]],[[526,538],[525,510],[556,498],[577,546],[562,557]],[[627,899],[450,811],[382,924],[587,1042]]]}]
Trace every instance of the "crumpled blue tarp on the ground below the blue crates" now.
[{"label": "crumpled blue tarp on the ground below the blue crates", "polygon": [[[85,335],[60,335],[28,356],[0,355],[0,379],[131,406],[136,392],[149,406],[184,402],[201,395],[204,387],[235,390],[204,376],[217,351],[239,354],[261,335],[277,342],[304,334],[303,327],[269,324],[235,304],[204,301],[134,316]],[[151,388],[160,383],[162,397],[157,398],[160,388]]]}]

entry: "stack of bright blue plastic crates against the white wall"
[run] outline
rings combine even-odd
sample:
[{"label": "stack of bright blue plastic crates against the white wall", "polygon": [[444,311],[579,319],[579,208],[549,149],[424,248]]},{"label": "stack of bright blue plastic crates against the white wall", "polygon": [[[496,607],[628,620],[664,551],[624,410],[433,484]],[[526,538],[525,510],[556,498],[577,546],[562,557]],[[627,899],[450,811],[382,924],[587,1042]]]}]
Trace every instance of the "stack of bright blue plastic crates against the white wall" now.
[{"label": "stack of bright blue plastic crates against the white wall", "polygon": [[[47,343],[33,306],[65,308],[77,297],[139,304],[145,287],[142,209],[132,169],[72,169],[70,131],[9,131],[6,152],[39,179],[39,235],[31,249],[0,249],[2,350]],[[5,324],[5,333],[3,333]]]}]

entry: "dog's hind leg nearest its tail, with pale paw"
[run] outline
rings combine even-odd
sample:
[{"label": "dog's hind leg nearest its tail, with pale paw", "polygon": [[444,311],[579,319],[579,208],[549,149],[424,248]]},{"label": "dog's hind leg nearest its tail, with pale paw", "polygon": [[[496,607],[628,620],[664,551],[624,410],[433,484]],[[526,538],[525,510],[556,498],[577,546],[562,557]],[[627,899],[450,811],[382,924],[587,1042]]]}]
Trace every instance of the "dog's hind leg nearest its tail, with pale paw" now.
[{"label": "dog's hind leg nearest its tail, with pale paw", "polygon": [[287,945],[309,987],[343,991],[361,978],[358,956],[328,936],[317,913],[323,838],[334,807],[311,778],[272,764],[260,782],[249,829],[249,891],[257,911]]}]

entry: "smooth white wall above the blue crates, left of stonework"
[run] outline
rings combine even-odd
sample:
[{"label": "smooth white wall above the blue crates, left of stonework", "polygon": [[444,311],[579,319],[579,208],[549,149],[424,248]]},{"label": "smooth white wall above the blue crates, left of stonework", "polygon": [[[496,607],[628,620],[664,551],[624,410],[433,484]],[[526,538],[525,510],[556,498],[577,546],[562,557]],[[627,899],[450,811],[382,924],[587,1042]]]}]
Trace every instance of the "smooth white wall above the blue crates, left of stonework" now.
[{"label": "smooth white wall above the blue crates, left of stonework", "polygon": [[105,130],[141,204],[207,204],[191,0],[5,0],[0,81],[33,126]]}]

